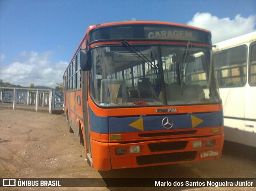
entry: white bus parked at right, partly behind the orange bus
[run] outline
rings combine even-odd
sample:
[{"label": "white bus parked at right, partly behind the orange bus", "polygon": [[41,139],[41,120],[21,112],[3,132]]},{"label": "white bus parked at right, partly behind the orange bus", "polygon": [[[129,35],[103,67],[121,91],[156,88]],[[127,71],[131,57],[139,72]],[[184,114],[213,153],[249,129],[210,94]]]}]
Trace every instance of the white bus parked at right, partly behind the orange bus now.
[{"label": "white bus parked at right, partly behind the orange bus", "polygon": [[217,43],[225,140],[256,147],[256,32]]}]

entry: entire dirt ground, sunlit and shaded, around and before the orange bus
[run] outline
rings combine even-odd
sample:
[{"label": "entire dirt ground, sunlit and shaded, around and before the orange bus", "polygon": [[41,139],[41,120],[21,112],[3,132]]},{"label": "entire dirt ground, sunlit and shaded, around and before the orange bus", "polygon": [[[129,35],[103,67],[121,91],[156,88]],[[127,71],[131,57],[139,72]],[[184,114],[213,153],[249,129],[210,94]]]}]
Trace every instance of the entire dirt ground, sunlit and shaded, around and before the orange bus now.
[{"label": "entire dirt ground, sunlit and shaded, around and before the orange bus", "polygon": [[[20,104],[13,110],[12,104],[0,103],[0,178],[254,177],[255,149],[248,150],[247,156],[241,147],[236,149],[237,146],[232,145],[226,145],[222,158],[214,161],[98,172],[86,162],[84,147],[76,136],[68,132],[63,113],[49,114],[48,108],[42,106],[35,112],[35,106]],[[243,156],[239,157],[240,154]],[[254,189],[218,187],[218,190]],[[160,187],[0,187],[0,190],[160,190]],[[206,187],[182,190],[206,190]],[[216,187],[207,190],[216,190]]]}]

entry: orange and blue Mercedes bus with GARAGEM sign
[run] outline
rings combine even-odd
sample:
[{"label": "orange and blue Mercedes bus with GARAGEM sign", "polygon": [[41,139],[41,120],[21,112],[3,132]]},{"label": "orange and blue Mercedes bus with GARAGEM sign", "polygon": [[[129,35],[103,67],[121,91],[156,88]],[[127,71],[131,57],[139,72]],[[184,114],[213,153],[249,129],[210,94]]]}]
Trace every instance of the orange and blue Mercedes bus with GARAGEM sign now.
[{"label": "orange and blue Mercedes bus with GARAGEM sign", "polygon": [[220,158],[210,31],[149,21],[89,26],[64,72],[64,110],[100,171]]}]

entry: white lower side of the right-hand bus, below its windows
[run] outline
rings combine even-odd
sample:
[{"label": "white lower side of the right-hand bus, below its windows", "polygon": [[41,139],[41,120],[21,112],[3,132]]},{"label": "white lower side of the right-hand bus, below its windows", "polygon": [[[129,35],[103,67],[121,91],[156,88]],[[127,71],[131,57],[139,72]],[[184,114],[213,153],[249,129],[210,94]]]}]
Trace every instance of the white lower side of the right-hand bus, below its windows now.
[{"label": "white lower side of the right-hand bus, below its windows", "polygon": [[[225,140],[256,147],[256,87],[220,89]],[[243,112],[243,113],[242,113]]]}]

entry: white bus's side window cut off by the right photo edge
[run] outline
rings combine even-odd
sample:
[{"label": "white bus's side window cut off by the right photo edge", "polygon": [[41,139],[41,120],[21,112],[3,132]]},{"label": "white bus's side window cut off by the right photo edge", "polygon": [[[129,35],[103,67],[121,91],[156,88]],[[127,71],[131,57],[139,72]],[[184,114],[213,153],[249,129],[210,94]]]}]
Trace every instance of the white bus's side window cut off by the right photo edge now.
[{"label": "white bus's side window cut off by the right photo edge", "polygon": [[256,86],[256,43],[250,46],[249,84]]}]

